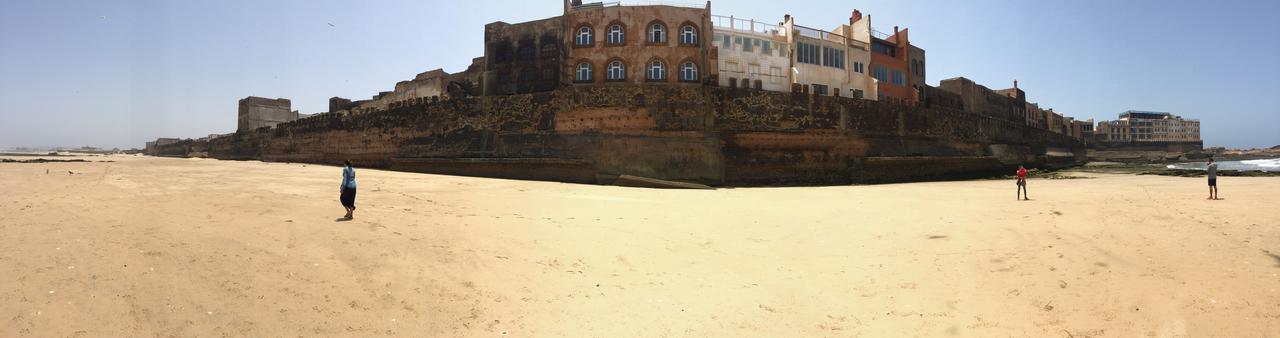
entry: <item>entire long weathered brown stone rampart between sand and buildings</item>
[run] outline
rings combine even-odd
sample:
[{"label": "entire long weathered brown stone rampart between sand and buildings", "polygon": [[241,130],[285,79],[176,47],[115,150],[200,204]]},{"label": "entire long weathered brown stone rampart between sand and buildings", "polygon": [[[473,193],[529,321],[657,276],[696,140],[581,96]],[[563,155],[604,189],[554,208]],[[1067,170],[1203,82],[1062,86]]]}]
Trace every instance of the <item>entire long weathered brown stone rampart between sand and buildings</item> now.
[{"label": "entire long weathered brown stone rampart between sand and buildings", "polygon": [[588,183],[585,173],[772,186],[989,174],[1018,164],[1079,161],[1083,147],[1020,122],[943,106],[628,86],[421,97],[365,114],[319,114],[184,141],[161,152],[324,164],[351,159],[360,166]]}]

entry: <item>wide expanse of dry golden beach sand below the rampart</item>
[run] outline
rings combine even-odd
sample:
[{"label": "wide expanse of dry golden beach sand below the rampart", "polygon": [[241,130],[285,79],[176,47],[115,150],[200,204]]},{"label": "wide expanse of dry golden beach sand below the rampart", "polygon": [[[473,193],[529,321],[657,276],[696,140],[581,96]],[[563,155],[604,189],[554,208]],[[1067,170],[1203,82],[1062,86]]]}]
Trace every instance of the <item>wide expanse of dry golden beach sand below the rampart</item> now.
[{"label": "wide expanse of dry golden beach sand below the rampart", "polygon": [[87,159],[115,163],[0,164],[0,337],[1280,334],[1280,178],[1018,202],[360,170],[335,221],[335,166]]}]

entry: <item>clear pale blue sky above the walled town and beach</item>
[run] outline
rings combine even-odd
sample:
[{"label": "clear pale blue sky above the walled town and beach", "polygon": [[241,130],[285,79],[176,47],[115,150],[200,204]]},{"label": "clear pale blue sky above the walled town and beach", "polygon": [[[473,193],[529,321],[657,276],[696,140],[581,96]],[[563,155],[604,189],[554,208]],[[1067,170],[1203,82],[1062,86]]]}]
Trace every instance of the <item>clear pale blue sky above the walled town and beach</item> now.
[{"label": "clear pale blue sky above the walled town and beach", "polygon": [[[1080,119],[1198,118],[1206,146],[1280,145],[1280,1],[741,1],[714,14],[832,28],[858,8],[911,28],[929,84],[1019,79]],[[367,99],[483,54],[484,24],[559,1],[4,1],[0,147],[141,147],[236,129],[237,100]],[[329,24],[333,26],[329,26]]]}]

